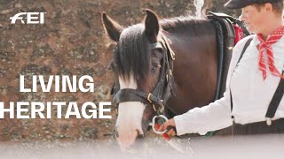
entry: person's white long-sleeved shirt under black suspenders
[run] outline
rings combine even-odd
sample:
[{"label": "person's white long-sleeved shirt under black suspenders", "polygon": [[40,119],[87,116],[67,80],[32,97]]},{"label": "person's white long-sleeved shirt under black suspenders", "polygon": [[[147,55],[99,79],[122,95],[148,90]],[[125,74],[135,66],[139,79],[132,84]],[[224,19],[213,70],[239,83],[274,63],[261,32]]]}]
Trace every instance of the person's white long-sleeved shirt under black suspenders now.
[{"label": "person's white long-sleeved shirt under black suspenders", "polygon": [[[253,40],[236,67],[241,51],[251,36],[253,36]],[[236,44],[233,48],[233,57],[228,71],[224,97],[209,103],[207,106],[194,108],[185,114],[174,117],[177,135],[185,133],[200,133],[203,135],[210,131],[223,129],[233,125],[232,116],[235,123],[241,125],[266,120],[265,114],[280,83],[280,78],[273,76],[269,71],[265,51],[267,77],[265,80],[263,79],[262,72],[258,69],[259,52],[256,45],[259,43],[256,35],[250,35]],[[279,42],[272,44],[272,52],[274,64],[279,72],[282,72],[284,65],[284,36]],[[233,95],[232,112],[229,85],[231,85]],[[272,120],[281,117],[284,117],[284,97],[281,99]]]}]

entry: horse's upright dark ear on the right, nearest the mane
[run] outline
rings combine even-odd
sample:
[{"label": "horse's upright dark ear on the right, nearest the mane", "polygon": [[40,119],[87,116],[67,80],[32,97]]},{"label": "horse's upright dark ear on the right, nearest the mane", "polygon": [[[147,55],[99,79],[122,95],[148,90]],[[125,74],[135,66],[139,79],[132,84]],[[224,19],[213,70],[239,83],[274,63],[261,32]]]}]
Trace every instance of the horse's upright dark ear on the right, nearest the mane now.
[{"label": "horse's upright dark ear on the right, nearest the mane", "polygon": [[156,38],[159,34],[159,19],[154,11],[146,9],[146,18],[145,18],[145,32],[149,36],[150,41],[156,41]]}]

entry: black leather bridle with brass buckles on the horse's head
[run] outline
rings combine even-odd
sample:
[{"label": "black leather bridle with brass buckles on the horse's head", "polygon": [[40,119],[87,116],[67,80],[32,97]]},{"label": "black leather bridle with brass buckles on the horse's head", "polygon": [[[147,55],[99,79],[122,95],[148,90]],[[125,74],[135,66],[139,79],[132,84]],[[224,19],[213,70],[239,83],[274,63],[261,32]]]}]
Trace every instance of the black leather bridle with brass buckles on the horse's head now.
[{"label": "black leather bridle with brass buckles on the horse's head", "polygon": [[[156,114],[162,114],[164,105],[170,99],[170,94],[172,92],[172,69],[175,55],[163,35],[162,42],[151,43],[149,48],[151,50],[162,49],[162,53],[164,54],[162,60],[162,71],[154,90],[146,93],[137,89],[125,88],[120,89],[115,93],[114,88],[114,106],[116,106],[116,108],[121,102],[143,102],[145,104],[148,103],[146,105],[152,105]],[[159,107],[159,110],[156,109],[156,106]]]}]

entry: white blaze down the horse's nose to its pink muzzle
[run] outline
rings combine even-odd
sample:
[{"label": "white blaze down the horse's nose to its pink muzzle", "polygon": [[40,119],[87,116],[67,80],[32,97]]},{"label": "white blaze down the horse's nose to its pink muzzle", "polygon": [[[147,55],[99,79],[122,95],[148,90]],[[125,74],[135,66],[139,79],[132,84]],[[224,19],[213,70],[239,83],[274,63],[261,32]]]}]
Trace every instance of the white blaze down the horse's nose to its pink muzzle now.
[{"label": "white blaze down the horse's nose to its pink muzzle", "polygon": [[[119,77],[119,84],[121,89],[137,89],[138,87],[133,75],[130,75],[129,81]],[[146,106],[142,102],[121,102],[119,104],[115,126],[119,135],[117,140],[122,149],[130,148],[138,134],[143,134],[141,123],[145,108]]]}]

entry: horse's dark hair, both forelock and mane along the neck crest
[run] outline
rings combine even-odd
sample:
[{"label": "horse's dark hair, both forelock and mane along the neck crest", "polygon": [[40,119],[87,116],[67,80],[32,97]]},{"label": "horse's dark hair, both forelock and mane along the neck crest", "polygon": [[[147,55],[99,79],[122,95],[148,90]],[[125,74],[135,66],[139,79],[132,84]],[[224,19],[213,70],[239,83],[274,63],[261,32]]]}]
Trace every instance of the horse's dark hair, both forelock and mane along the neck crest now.
[{"label": "horse's dark hair, both forelock and mane along the neck crest", "polygon": [[[162,19],[162,29],[172,32],[179,28],[190,28],[190,32],[208,27],[207,19],[194,17],[178,17],[173,19]],[[114,53],[114,64],[117,64],[117,72],[123,79],[129,80],[130,74],[138,84],[146,81],[149,72],[150,49],[149,40],[145,34],[144,24],[133,25],[125,28],[120,35],[120,41],[116,53]],[[187,30],[186,30],[187,31]]]}]

